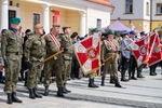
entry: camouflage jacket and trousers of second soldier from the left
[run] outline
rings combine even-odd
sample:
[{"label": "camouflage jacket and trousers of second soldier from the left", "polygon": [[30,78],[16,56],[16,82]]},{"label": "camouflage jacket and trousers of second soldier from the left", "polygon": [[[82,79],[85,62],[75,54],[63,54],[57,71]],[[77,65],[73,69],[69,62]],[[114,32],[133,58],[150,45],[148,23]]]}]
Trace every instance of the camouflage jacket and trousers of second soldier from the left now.
[{"label": "camouflage jacket and trousers of second soldier from the left", "polygon": [[45,40],[43,37],[32,35],[25,44],[26,62],[31,62],[32,67],[28,70],[27,86],[28,89],[37,87],[41,76],[43,62],[45,57]]}]

